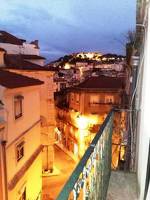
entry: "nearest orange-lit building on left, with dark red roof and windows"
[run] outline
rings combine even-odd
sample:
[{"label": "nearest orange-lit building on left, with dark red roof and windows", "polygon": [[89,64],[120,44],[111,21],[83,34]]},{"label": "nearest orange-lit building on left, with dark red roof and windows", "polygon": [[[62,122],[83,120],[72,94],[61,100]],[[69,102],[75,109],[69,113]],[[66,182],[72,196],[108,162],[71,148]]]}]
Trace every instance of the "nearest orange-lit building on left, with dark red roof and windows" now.
[{"label": "nearest orange-lit building on left, with dark red roof and windows", "polygon": [[0,71],[2,199],[40,199],[41,84],[37,79]]}]

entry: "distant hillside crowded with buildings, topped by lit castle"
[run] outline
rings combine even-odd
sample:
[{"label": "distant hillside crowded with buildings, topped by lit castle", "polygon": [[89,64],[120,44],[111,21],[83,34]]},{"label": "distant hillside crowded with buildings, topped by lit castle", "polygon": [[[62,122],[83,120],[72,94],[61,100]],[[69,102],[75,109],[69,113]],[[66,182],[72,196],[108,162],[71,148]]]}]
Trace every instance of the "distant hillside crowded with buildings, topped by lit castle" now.
[{"label": "distant hillside crowded with buildings, topped by lit castle", "polygon": [[74,53],[45,66],[55,70],[57,91],[77,85],[91,76],[126,77],[125,56]]}]

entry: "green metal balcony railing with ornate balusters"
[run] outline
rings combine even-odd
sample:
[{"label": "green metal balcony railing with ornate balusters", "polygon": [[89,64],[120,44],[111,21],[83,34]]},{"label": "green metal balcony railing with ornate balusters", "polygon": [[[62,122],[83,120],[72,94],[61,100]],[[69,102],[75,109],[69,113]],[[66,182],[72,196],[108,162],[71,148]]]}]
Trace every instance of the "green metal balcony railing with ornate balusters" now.
[{"label": "green metal balcony railing with ornate balusters", "polygon": [[111,173],[113,111],[106,117],[57,200],[105,200]]}]

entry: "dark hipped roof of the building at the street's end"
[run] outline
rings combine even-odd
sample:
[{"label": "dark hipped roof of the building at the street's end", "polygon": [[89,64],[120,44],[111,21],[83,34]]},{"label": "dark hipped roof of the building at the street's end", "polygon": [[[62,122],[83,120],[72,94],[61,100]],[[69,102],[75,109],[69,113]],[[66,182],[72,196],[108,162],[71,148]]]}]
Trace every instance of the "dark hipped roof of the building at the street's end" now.
[{"label": "dark hipped roof of the building at the street's end", "polygon": [[90,77],[84,82],[80,83],[76,89],[112,89],[118,90],[124,88],[124,80],[118,77],[96,76]]}]

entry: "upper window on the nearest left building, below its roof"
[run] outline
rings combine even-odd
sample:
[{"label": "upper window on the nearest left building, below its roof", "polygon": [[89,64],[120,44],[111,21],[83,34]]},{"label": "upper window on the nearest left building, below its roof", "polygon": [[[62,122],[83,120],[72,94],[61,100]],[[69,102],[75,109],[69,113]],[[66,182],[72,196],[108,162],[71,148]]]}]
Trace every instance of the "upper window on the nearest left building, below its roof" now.
[{"label": "upper window on the nearest left building, below its roof", "polygon": [[18,119],[22,116],[22,100],[23,96],[18,95],[14,98],[14,112],[15,112],[15,119]]}]

